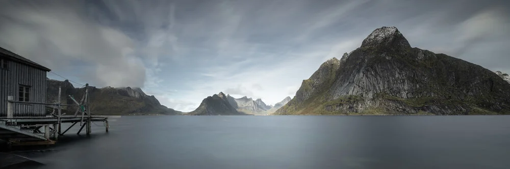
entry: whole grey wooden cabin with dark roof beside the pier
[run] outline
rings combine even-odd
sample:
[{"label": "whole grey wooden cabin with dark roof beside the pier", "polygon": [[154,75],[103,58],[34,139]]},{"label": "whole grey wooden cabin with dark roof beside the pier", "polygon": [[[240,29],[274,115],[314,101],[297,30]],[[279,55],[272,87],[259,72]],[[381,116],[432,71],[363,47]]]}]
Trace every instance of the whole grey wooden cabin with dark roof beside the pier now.
[{"label": "whole grey wooden cabin with dark roof beside the pier", "polygon": [[[36,62],[0,47],[0,117],[7,116],[7,97],[20,102],[46,102],[46,73]],[[44,105],[16,104],[14,117],[45,116]]]}]

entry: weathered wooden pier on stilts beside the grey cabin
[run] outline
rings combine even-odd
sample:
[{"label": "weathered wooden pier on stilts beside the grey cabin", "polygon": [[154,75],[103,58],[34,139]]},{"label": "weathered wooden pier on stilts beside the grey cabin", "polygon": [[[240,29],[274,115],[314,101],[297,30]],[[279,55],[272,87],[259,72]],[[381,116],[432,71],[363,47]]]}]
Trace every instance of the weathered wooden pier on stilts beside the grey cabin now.
[{"label": "weathered wooden pier on stilts beside the grey cabin", "polygon": [[[5,140],[10,146],[23,146],[23,145],[52,145],[58,141],[58,137],[64,135],[70,128],[79,124],[80,130],[77,134],[85,128],[85,133],[89,135],[92,132],[92,122],[103,122],[105,130],[108,132],[110,125],[108,118],[120,116],[96,116],[92,115],[88,105],[88,84],[86,84],[85,94],[80,102],[74,99],[73,96],[69,97],[73,100],[75,105],[64,105],[60,103],[61,89],[59,88],[58,103],[36,103],[36,102],[19,102],[13,100],[12,96],[7,99],[7,117],[0,117],[0,140]],[[17,117],[14,115],[15,104],[23,105],[50,105],[58,107],[55,110],[58,112],[52,113],[49,116],[37,117]],[[74,115],[63,115],[62,106],[78,107]],[[62,131],[62,123],[70,123],[71,125]]]}]

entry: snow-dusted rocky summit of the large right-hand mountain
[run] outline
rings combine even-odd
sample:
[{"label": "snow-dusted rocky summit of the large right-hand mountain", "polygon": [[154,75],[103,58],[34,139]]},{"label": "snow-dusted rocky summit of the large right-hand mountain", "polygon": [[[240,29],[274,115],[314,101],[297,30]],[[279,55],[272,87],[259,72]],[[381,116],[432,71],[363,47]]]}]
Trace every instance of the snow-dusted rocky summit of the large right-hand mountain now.
[{"label": "snow-dusted rocky summit of the large right-hand mountain", "polygon": [[389,47],[391,49],[411,48],[411,45],[404,38],[397,27],[383,26],[377,28],[363,40],[361,47]]}]

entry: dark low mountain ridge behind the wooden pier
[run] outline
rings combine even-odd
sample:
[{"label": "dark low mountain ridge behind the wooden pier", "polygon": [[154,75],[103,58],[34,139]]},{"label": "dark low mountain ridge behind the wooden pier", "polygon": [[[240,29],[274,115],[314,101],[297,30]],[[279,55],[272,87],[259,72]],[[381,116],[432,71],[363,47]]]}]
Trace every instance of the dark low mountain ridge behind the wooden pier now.
[{"label": "dark low mountain ridge behind the wooden pier", "polygon": [[[85,87],[75,88],[68,80],[46,79],[46,84],[47,103],[58,102],[59,86],[61,86],[63,104],[74,105],[68,95],[80,101],[85,93]],[[161,105],[154,95],[149,96],[140,88],[89,86],[89,96],[90,111],[96,115],[178,115],[182,113]],[[67,115],[74,114],[76,110],[75,107],[64,107],[64,109]]]}]

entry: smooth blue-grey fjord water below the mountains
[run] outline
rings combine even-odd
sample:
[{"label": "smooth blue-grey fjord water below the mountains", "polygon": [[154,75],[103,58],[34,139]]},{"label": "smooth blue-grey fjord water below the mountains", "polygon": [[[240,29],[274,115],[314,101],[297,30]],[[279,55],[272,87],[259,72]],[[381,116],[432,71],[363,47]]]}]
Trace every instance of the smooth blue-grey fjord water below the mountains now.
[{"label": "smooth blue-grey fjord water below the mountains", "polygon": [[[510,116],[131,116],[37,168],[508,168]],[[74,131],[74,132],[72,132]]]}]

